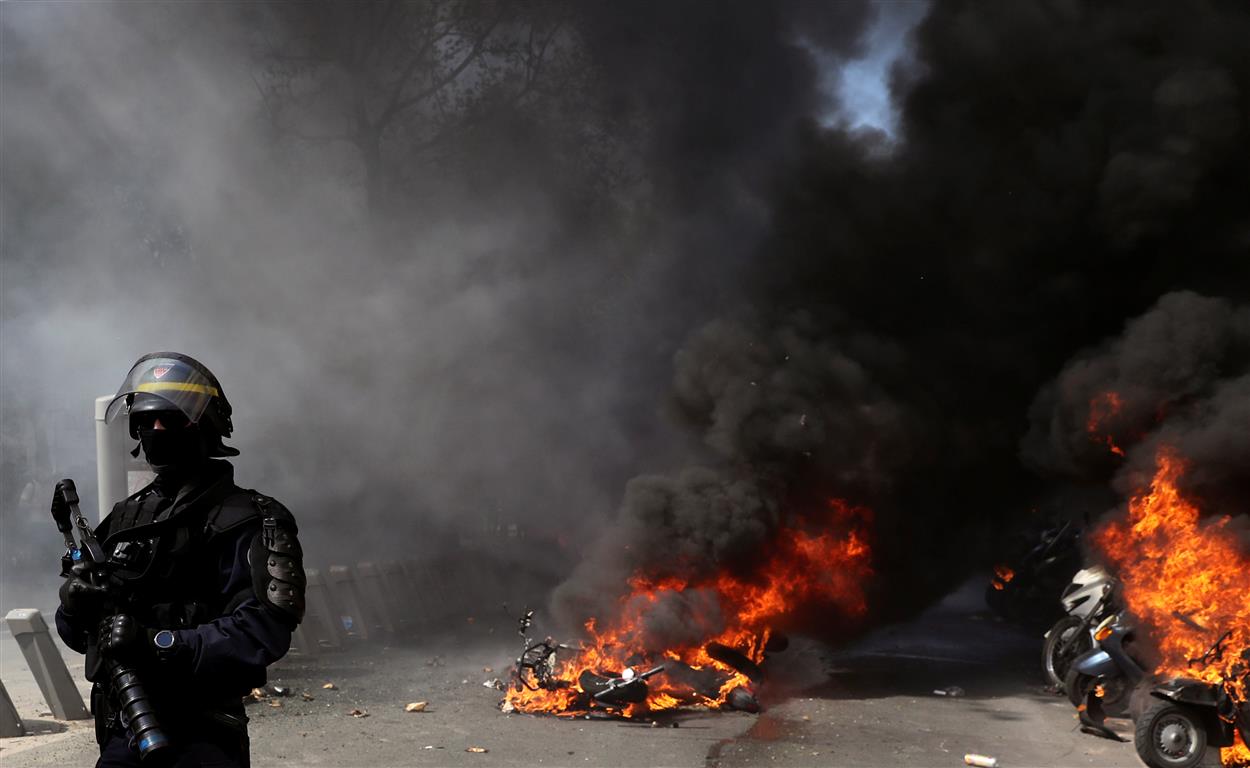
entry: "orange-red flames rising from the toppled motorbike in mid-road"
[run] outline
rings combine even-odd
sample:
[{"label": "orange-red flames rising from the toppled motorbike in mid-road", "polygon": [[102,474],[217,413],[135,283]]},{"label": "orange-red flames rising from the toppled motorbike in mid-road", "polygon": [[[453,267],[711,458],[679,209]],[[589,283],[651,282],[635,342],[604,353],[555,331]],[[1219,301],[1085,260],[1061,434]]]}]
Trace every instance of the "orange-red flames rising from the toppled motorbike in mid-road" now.
[{"label": "orange-red flames rising from the toppled motorbike in mid-road", "polygon": [[[868,612],[864,583],[872,573],[866,533],[871,512],[832,499],[821,518],[819,533],[780,529],[769,545],[765,562],[752,574],[722,570],[714,578],[694,582],[634,574],[611,623],[600,628],[595,619],[586,622],[589,642],[582,644],[581,652],[576,658],[558,659],[555,677],[564,687],[520,692],[511,687],[505,700],[520,712],[581,714],[585,708],[579,700],[585,698],[578,679],[582,672],[619,674],[635,664],[641,670],[680,662],[695,670],[711,672],[720,680],[716,694],[711,695],[709,689],[696,690],[688,682],[660,673],[650,678],[646,700],[626,707],[624,714],[634,717],[684,704],[722,707],[731,690],[740,685],[750,688],[751,683],[744,673],[712,659],[706,650],[709,643],[728,645],[760,663],[772,625],[801,607],[828,607],[848,620]],[[709,624],[708,637],[680,647],[649,648],[648,609],[665,598],[694,590],[711,598],[722,622],[712,625],[715,619],[710,615],[691,615],[692,625]]]}]

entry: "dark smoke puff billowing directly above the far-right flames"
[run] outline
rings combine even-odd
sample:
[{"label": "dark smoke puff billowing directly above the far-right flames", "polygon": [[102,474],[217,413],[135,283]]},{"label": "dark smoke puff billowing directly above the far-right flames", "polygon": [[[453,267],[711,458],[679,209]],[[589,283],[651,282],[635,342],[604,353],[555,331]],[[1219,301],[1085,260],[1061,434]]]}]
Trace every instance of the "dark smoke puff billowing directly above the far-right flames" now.
[{"label": "dark smoke puff billowing directly above the far-right flames", "polygon": [[1112,474],[1122,495],[1149,485],[1164,448],[1188,463],[1182,490],[1205,513],[1248,514],[1250,308],[1188,291],[1162,296],[1064,366],[1034,403],[1022,442],[1040,472]]}]

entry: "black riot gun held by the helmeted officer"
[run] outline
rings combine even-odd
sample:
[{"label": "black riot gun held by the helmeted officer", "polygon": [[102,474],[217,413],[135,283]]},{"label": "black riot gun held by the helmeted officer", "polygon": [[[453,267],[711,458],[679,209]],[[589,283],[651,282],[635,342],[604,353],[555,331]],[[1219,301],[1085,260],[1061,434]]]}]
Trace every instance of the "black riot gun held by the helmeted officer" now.
[{"label": "black riot gun held by the helmeted officer", "polygon": [[[59,504],[58,502],[61,500],[65,503]],[[56,484],[52,498],[52,519],[56,522],[56,529],[65,538],[61,575],[68,577],[75,572],[85,572],[91,584],[96,587],[109,584],[111,582],[110,564],[100,542],[91,530],[91,524],[79,509],[79,495],[74,480],[65,479]],[[74,540],[75,528],[78,529],[78,542]],[[110,599],[105,605],[106,613],[118,613],[119,603],[116,597]],[[88,644],[91,645],[96,642],[98,638],[94,633],[89,633]],[[121,705],[121,718],[130,733],[134,734],[135,744],[139,747],[139,757],[146,760],[154,753],[169,747],[169,737],[156,720],[151,702],[135,670],[126,664],[112,660],[105,662],[104,669],[109,687]]]}]

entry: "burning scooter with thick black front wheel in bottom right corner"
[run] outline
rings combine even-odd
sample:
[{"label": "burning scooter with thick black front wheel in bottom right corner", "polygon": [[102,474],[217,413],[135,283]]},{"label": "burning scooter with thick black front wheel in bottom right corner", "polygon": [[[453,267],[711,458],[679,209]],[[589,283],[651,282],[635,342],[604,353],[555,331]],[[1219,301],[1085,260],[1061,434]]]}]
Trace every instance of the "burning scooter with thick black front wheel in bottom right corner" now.
[{"label": "burning scooter with thick black front wheel in bottom right corner", "polygon": [[[1206,667],[1224,660],[1225,632],[1206,653],[1190,665]],[[1250,744],[1250,650],[1225,668],[1219,683],[1178,678],[1151,688],[1154,702],[1138,718],[1134,747],[1150,768],[1194,768],[1209,747],[1231,747],[1234,734]]]}]

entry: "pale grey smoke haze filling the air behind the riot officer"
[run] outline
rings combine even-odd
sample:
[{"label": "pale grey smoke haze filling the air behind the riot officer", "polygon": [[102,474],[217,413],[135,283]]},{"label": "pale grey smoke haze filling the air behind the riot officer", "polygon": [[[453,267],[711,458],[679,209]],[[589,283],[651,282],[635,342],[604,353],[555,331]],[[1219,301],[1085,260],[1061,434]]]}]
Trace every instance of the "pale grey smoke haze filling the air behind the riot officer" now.
[{"label": "pale grey smoke haze filling the air behind the riot officer", "polygon": [[[542,553],[522,564],[565,568],[629,477],[694,453],[658,418],[671,355],[738,300],[764,186],[826,101],[809,50],[841,61],[870,18],[0,6],[6,590],[50,594],[51,485],[91,503],[91,400],[160,349],[221,379],[238,480],[311,560],[516,523]],[[402,35],[445,24],[490,31],[482,65],[384,125]],[[399,101],[468,53],[440,45]]]}]

